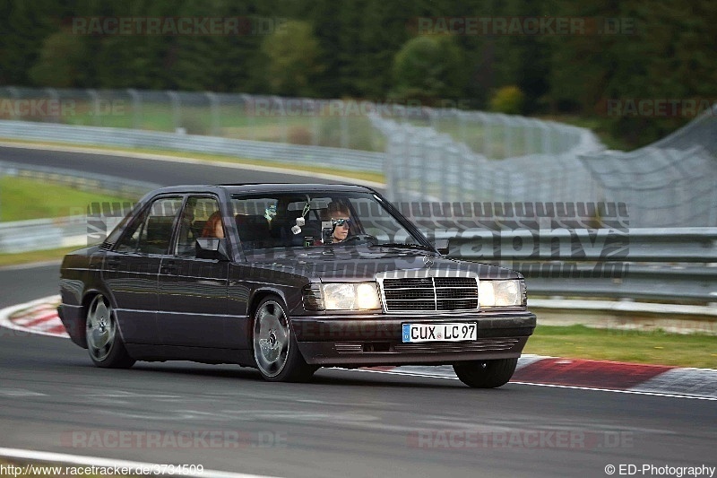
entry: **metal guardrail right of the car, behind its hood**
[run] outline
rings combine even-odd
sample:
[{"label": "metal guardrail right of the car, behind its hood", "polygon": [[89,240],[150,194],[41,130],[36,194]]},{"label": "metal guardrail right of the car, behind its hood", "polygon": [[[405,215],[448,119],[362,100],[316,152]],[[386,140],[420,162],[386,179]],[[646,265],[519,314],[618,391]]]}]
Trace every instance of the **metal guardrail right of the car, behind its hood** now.
[{"label": "metal guardrail right of the car, behind its hood", "polygon": [[532,295],[717,302],[717,228],[463,230],[448,256],[521,272]]}]

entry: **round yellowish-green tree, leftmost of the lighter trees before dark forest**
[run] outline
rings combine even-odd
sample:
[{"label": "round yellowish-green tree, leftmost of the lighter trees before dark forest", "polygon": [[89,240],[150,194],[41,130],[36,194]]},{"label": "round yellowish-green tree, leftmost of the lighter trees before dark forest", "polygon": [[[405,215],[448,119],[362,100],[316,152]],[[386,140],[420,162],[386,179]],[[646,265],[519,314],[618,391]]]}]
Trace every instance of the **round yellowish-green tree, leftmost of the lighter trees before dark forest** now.
[{"label": "round yellowish-green tree, leftmost of the lighter trees before dark forest", "polygon": [[291,20],[262,43],[266,81],[273,93],[312,96],[313,80],[324,70],[319,42],[307,22]]}]

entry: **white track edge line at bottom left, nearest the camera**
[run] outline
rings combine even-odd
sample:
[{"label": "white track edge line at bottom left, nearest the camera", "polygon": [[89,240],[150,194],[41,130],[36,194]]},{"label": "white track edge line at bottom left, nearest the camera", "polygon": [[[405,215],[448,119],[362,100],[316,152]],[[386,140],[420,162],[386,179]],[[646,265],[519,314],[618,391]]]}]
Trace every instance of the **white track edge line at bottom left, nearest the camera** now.
[{"label": "white track edge line at bottom left, nearest the camera", "polygon": [[[99,458],[96,456],[68,455],[66,453],[52,453],[48,451],[35,451],[22,448],[0,448],[0,456],[9,458],[19,458],[23,460],[38,460],[53,463],[63,463],[72,465],[99,466],[99,467],[120,467],[120,468],[138,468],[138,467],[156,467],[156,463],[135,462],[130,460],[115,460],[111,458]],[[175,475],[180,476],[202,476],[203,478],[272,478],[266,474],[245,474],[235,472],[222,472],[219,470],[204,469],[202,473],[182,473]]]}]

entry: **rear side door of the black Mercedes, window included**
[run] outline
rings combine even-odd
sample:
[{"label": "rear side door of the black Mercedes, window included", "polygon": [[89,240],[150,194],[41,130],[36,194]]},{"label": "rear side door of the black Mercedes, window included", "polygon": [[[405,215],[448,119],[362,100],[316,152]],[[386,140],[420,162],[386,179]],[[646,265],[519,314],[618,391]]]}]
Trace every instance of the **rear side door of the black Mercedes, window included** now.
[{"label": "rear side door of the black Mercedes, window included", "polygon": [[148,204],[105,255],[102,277],[114,298],[125,343],[160,343],[157,276],[181,204],[181,196]]}]

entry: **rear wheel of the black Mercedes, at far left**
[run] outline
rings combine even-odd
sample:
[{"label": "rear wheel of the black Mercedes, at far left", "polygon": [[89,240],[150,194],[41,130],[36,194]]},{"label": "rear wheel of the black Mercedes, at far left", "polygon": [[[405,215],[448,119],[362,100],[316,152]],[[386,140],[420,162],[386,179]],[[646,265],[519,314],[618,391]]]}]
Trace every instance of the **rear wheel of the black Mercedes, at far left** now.
[{"label": "rear wheel of the black Mercedes, at far left", "polygon": [[129,369],[134,365],[119,335],[117,317],[102,294],[95,296],[87,309],[85,337],[90,358],[98,367]]}]

